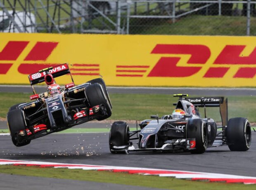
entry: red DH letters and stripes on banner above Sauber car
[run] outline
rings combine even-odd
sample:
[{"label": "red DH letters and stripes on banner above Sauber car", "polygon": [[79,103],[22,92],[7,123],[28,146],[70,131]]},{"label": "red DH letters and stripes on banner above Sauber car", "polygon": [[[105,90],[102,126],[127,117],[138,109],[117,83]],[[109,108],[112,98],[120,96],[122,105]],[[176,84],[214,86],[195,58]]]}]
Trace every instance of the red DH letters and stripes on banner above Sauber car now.
[{"label": "red DH letters and stripes on banner above Sauber car", "polygon": [[[222,78],[232,65],[241,65],[233,78],[253,78],[256,74],[256,48],[249,56],[243,56],[241,53],[245,47],[244,45],[226,45],[203,77]],[[209,47],[190,44],[157,44],[151,53],[190,55],[190,58],[186,63],[187,66],[177,66],[180,57],[161,57],[147,77],[192,76],[204,67],[211,56]],[[193,66],[193,64],[202,66]],[[142,77],[145,76],[147,69],[149,65],[117,65],[116,76]]]}]

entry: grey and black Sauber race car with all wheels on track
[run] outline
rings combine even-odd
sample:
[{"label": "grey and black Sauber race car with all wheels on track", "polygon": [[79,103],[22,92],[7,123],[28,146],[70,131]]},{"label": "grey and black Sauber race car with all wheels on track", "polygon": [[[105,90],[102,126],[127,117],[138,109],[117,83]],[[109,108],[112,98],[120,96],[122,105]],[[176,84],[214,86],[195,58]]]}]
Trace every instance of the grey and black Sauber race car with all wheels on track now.
[{"label": "grey and black Sauber race car with all wheels on track", "polygon": [[[247,151],[251,145],[251,127],[246,118],[228,120],[228,100],[224,97],[179,97],[176,109],[185,111],[183,118],[172,115],[151,116],[156,120],[143,120],[140,130],[129,131],[128,124],[116,121],[109,133],[111,153],[128,151],[160,151],[204,153],[207,147],[228,145],[231,151]],[[186,96],[185,98],[183,98]],[[198,107],[204,107],[205,118],[199,115]],[[220,107],[222,126],[212,118],[206,118],[205,107]],[[217,129],[221,129],[217,131]],[[135,136],[137,135],[137,137]],[[135,136],[135,137],[134,137]],[[137,147],[132,140],[138,140]]]}]

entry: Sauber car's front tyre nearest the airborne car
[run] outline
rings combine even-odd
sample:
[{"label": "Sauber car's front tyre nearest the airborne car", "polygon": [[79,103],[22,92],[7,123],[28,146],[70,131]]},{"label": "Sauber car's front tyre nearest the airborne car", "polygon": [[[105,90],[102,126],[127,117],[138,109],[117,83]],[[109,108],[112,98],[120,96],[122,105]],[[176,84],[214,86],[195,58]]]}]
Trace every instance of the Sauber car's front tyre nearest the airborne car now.
[{"label": "Sauber car's front tyre nearest the airborne car", "polygon": [[129,145],[129,126],[123,121],[115,121],[109,132],[109,149],[111,153],[125,153],[125,151],[114,151],[114,146],[128,146]]}]

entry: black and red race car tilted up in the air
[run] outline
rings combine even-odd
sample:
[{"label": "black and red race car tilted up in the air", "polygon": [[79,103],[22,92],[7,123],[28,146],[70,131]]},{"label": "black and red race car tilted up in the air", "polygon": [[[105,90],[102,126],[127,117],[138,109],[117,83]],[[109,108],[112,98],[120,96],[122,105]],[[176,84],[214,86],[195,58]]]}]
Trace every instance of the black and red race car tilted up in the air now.
[{"label": "black and red race car tilted up in the air", "polygon": [[[103,79],[93,79],[78,86],[72,82],[60,87],[54,78],[65,74],[69,74],[73,81],[66,63],[28,76],[34,93],[30,99],[34,101],[14,105],[7,114],[15,146],[24,146],[32,139],[111,116],[112,106]],[[47,84],[47,93],[36,94],[33,85],[42,82]],[[59,90],[59,93],[53,95],[53,90]]]}]

